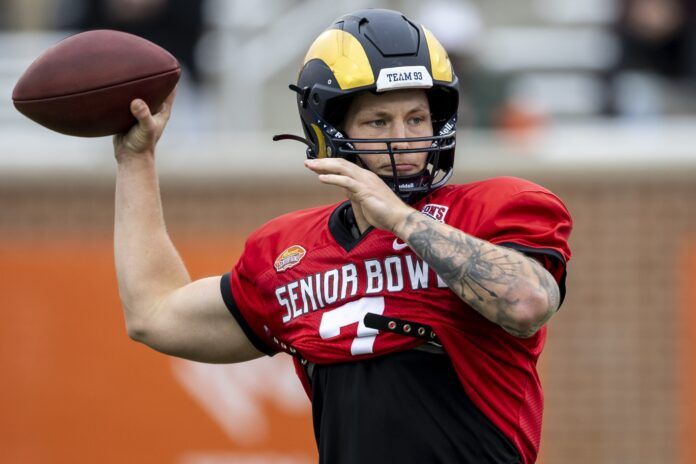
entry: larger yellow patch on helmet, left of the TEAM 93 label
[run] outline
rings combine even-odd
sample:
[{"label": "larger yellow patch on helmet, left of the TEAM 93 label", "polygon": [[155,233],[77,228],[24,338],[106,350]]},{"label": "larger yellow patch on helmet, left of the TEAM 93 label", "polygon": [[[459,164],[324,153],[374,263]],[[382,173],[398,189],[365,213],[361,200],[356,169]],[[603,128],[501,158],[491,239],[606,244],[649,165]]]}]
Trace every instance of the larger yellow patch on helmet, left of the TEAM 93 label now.
[{"label": "larger yellow patch on helmet, left of the TEAM 93 label", "polygon": [[313,59],[326,63],[342,90],[375,83],[365,50],[358,39],[347,32],[339,29],[324,31],[309,47],[303,65]]}]

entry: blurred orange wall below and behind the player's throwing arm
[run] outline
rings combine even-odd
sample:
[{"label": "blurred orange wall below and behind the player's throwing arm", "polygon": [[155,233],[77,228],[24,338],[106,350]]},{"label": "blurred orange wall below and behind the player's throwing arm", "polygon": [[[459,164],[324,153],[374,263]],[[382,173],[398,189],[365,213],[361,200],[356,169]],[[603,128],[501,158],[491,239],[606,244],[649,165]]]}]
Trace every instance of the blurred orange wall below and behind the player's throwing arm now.
[{"label": "blurred orange wall below and behind the player's throwing arm", "polygon": [[[226,272],[241,243],[198,237],[180,241],[180,250],[192,275],[202,277]],[[262,362],[240,387],[235,382],[242,376],[234,373],[247,372],[244,365],[173,361],[128,339],[110,237],[5,238],[0,279],[0,462],[203,462],[211,455],[225,462],[259,455],[269,463],[274,456],[316,462],[309,402],[297,393],[298,381],[287,386],[287,375],[275,379]],[[290,359],[269,362],[289,365]],[[196,370],[212,377],[187,374]],[[206,378],[218,379],[217,390]],[[199,396],[185,387],[187,379],[198,382]],[[294,393],[279,402],[254,394],[249,382],[278,382]],[[244,394],[225,398],[228,390]],[[220,416],[234,410],[246,411],[240,420],[248,424],[227,417],[228,427],[221,425]],[[246,438],[239,435],[244,427],[252,429]]]}]

